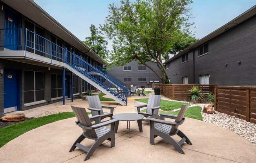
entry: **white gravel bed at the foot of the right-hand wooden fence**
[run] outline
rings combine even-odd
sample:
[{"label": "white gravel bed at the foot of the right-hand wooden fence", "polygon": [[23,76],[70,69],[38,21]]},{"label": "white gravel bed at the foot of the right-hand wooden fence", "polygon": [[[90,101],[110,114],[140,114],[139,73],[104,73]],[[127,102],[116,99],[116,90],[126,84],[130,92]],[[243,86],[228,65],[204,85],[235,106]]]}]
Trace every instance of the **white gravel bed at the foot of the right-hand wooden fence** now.
[{"label": "white gravel bed at the foot of the right-hand wooden fence", "polygon": [[216,114],[202,112],[203,121],[223,127],[243,136],[256,145],[256,124],[216,111]]}]

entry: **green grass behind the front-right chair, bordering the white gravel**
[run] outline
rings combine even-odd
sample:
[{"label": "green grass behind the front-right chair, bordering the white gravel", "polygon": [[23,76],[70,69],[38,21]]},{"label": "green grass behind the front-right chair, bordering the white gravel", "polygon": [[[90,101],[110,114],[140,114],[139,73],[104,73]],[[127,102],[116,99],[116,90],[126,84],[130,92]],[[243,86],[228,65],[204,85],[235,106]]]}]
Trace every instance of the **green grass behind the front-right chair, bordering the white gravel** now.
[{"label": "green grass behind the front-right chair, bordering the white gravel", "polygon": [[[185,117],[193,118],[196,120],[203,120],[202,114],[201,114],[202,108],[199,106],[195,107],[189,107],[187,111],[185,112]],[[173,115],[178,115],[180,110],[177,110],[176,112],[161,112],[165,114],[173,114]]]}]

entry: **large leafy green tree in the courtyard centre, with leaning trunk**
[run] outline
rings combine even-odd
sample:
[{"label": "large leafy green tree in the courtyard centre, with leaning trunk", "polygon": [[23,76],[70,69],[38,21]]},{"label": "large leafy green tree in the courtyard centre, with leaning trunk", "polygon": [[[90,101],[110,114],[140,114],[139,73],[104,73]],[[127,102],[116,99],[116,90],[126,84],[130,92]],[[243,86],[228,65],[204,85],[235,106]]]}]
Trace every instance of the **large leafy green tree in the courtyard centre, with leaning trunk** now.
[{"label": "large leafy green tree in the courtyard centre, with leaning trunk", "polygon": [[[109,15],[101,30],[113,40],[110,60],[124,65],[139,60],[163,83],[169,83],[163,61],[172,50],[177,31],[190,33],[188,23],[191,0],[121,0],[110,4]],[[159,74],[146,62],[157,62]]]}]

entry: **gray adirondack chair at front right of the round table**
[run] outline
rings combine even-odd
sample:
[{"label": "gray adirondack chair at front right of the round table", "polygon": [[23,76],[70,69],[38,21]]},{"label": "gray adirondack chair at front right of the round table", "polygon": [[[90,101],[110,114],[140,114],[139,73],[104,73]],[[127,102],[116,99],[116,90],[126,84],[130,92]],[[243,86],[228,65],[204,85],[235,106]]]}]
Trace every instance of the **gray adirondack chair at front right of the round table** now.
[{"label": "gray adirondack chair at front right of the round table", "polygon": [[[183,117],[186,110],[188,108],[188,104],[182,105],[181,110],[179,111],[179,114],[177,116],[175,115],[169,115],[169,114],[159,114],[160,120],[155,118],[147,118],[147,120],[150,121],[150,144],[155,145],[155,137],[160,136],[161,138],[165,139],[174,146],[174,148],[182,153],[185,154],[183,149],[181,148],[181,145],[186,141],[187,144],[192,145],[191,141],[188,139],[188,137],[181,132],[181,130],[178,129],[179,125],[181,125],[185,118]],[[171,118],[175,121],[165,121],[165,118]],[[179,142],[176,142],[174,139],[172,139],[171,136],[178,135],[181,137],[181,140]]]}]

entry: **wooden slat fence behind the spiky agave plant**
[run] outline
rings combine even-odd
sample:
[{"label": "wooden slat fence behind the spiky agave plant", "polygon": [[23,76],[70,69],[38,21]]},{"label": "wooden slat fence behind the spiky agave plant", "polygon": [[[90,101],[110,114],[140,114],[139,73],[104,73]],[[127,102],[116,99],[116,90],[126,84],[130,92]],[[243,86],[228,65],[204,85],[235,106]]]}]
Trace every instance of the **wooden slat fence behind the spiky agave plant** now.
[{"label": "wooden slat fence behind the spiky agave plant", "polygon": [[160,87],[160,94],[163,96],[170,98],[172,100],[188,100],[189,92],[188,90],[191,89],[192,86],[197,86],[203,94],[203,97],[210,92],[214,94],[214,84],[152,84],[152,89],[155,86]]}]

